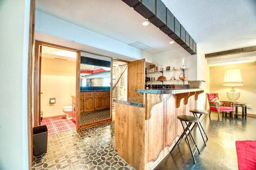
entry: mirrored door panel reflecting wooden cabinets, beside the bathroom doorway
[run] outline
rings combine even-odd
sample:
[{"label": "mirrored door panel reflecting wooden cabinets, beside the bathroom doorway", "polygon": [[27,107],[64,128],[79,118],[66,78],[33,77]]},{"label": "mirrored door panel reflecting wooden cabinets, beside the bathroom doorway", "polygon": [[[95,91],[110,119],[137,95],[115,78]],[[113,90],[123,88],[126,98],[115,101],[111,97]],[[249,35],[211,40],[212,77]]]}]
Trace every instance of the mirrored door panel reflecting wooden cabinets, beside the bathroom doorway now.
[{"label": "mirrored door panel reflecting wooden cabinets, beside the bathroom doorway", "polygon": [[81,52],[80,127],[111,118],[111,58]]}]

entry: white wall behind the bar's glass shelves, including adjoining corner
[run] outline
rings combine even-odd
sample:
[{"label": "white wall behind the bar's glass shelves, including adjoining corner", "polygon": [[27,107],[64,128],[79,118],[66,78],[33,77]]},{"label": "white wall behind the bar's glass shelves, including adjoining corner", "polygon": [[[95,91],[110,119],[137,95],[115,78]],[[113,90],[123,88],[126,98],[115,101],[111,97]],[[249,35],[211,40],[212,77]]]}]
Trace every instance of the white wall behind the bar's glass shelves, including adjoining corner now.
[{"label": "white wall behind the bar's glass shelves, including adjoining corner", "polygon": [[[205,54],[202,52],[200,47],[197,46],[197,54],[190,55],[184,49],[175,49],[172,51],[166,51],[163,53],[158,53],[153,56],[152,64],[158,63],[158,70],[160,70],[160,65],[162,64],[164,70],[166,70],[167,66],[170,66],[170,69],[174,66],[175,68],[180,68],[181,66],[181,59],[185,59],[185,66],[189,70],[185,70],[184,73],[186,75],[186,79],[188,80],[204,80],[206,82],[202,82],[200,88],[204,89],[204,93],[198,95],[198,100],[196,103],[197,109],[207,110],[206,103],[206,93],[208,91],[207,84],[210,82],[207,80],[208,75],[208,66],[207,66],[207,59],[205,59]],[[147,64],[146,67],[148,68],[148,77],[155,77],[156,80],[159,76],[162,76],[162,73],[149,73],[149,65]],[[172,76],[175,76],[178,81],[167,81],[164,84],[183,84],[183,81],[179,80],[178,76],[181,73],[181,70],[177,71],[170,71],[164,72],[164,76],[166,80],[170,80]],[[148,83],[150,84],[150,83]],[[162,82],[152,82],[152,84],[162,84]],[[185,81],[185,84],[188,84],[188,81]]]}]

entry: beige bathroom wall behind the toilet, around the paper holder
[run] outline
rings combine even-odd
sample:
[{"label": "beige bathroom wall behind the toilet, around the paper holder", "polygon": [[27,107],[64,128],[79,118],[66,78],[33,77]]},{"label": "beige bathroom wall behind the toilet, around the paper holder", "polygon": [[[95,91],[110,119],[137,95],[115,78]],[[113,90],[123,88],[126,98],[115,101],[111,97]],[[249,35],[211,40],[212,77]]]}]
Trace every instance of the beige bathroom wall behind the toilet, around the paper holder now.
[{"label": "beige bathroom wall behind the toilet, around the paper holder", "polygon": [[[76,62],[42,58],[41,111],[43,117],[64,115],[62,107],[71,106],[76,95]],[[49,104],[56,98],[56,104]]]}]

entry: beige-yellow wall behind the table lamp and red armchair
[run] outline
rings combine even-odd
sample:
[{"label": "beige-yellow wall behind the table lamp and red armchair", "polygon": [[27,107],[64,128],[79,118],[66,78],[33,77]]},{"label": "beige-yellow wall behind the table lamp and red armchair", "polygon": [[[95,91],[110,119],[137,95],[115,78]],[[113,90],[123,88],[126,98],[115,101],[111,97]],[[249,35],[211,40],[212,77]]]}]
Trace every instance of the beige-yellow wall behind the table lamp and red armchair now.
[{"label": "beige-yellow wall behind the table lamp and red armchair", "polygon": [[[241,69],[244,86],[236,87],[236,91],[240,92],[238,102],[250,105],[251,109],[247,109],[247,113],[256,115],[256,81],[254,79],[256,62],[210,67],[210,92],[218,93],[220,100],[228,101],[226,92],[230,91],[230,87],[223,86],[223,79],[225,70],[229,68]],[[238,111],[241,111],[240,107]]]}]

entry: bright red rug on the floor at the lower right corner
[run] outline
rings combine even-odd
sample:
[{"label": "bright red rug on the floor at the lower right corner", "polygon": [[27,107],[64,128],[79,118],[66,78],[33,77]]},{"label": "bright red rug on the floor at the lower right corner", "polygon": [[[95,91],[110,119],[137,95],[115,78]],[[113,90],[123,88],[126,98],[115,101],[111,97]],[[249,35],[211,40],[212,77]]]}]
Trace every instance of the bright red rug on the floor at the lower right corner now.
[{"label": "bright red rug on the floor at the lower right corner", "polygon": [[256,141],[236,141],[239,170],[256,170]]}]

